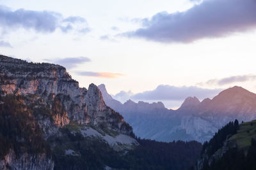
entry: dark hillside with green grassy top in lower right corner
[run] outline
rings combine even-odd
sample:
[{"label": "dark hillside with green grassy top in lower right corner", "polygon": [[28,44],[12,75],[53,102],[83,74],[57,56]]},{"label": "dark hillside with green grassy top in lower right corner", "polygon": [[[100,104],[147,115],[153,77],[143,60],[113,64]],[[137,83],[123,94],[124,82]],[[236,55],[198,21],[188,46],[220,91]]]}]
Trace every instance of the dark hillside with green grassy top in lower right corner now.
[{"label": "dark hillside with green grassy top in lower right corner", "polygon": [[256,121],[229,122],[205,142],[196,170],[256,169]]}]

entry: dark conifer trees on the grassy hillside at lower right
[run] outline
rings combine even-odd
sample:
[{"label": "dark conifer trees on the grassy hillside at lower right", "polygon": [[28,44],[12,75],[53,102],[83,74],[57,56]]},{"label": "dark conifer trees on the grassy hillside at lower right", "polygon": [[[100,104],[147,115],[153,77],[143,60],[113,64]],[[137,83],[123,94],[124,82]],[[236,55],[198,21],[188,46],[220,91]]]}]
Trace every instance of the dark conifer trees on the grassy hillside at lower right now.
[{"label": "dark conifer trees on the grassy hillside at lower right", "polygon": [[[230,136],[237,133],[239,129],[239,123],[230,122],[220,129],[214,137],[209,141],[205,142],[202,148],[201,157],[209,158],[218,149],[223,146],[223,142],[230,138]],[[237,147],[227,148],[225,152],[219,159],[213,159],[211,164],[209,164],[209,159],[204,160],[204,166],[202,170],[255,170],[256,169],[256,141],[252,138],[251,146],[246,150],[241,150]]]}]

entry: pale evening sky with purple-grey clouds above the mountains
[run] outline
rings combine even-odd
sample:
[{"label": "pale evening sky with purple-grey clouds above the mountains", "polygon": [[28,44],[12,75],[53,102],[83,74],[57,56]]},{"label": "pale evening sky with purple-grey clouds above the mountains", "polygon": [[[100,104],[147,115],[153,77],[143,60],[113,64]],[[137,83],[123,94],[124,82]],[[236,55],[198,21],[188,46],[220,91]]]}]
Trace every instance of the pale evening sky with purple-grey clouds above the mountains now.
[{"label": "pale evening sky with purple-grey clouds above the mountains", "polygon": [[122,102],[256,92],[255,0],[0,0],[0,53],[67,68]]}]

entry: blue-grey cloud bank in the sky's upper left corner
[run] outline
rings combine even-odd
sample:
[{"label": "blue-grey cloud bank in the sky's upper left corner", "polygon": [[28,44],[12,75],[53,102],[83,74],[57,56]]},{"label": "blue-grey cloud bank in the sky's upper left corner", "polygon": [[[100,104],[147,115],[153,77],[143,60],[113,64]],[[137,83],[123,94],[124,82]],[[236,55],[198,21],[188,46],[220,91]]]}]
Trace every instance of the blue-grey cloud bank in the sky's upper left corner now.
[{"label": "blue-grey cloud bank in the sky's upper left corner", "polygon": [[51,33],[56,29],[63,32],[76,30],[77,22],[87,27],[87,22],[82,17],[63,18],[61,13],[54,11],[33,11],[19,9],[12,11],[6,6],[0,6],[0,26],[6,30],[23,28],[33,29],[36,32]]}]

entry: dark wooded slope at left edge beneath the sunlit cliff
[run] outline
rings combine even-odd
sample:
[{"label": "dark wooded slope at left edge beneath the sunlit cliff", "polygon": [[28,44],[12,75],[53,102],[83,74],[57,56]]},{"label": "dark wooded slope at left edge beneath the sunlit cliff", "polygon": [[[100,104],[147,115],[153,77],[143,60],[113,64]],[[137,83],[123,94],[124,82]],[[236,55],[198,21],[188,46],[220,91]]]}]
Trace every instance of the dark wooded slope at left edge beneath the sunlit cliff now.
[{"label": "dark wooded slope at left edge beneath the sunlit cliff", "polygon": [[49,145],[42,138],[42,131],[31,110],[22,103],[22,97],[0,96],[0,159],[10,152],[17,157],[22,153],[51,154]]}]

